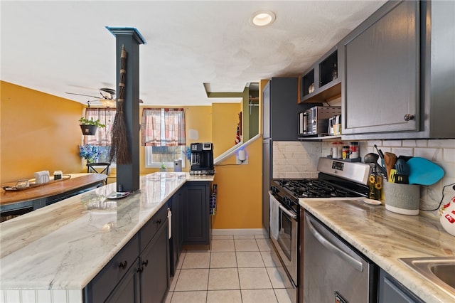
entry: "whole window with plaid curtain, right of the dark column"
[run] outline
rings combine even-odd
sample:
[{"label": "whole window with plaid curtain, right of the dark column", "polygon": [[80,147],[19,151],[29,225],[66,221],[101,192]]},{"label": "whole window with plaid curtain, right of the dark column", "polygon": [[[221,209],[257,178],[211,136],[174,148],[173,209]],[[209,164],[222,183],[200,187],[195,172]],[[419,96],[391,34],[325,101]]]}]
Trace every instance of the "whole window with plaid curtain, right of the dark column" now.
[{"label": "whole window with plaid curtain, right of the dark column", "polygon": [[142,145],[145,166],[173,167],[173,160],[182,159],[185,167],[186,134],[183,108],[144,108],[142,111]]}]

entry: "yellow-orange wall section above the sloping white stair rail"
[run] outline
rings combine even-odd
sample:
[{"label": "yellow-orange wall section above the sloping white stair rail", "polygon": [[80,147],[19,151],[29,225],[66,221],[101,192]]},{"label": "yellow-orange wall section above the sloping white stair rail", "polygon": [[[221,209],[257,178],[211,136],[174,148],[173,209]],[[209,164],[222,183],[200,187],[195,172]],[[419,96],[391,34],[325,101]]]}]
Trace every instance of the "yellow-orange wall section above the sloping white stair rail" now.
[{"label": "yellow-orange wall section above the sloping white stair rail", "polygon": [[213,156],[216,158],[235,145],[235,134],[242,103],[213,103]]}]

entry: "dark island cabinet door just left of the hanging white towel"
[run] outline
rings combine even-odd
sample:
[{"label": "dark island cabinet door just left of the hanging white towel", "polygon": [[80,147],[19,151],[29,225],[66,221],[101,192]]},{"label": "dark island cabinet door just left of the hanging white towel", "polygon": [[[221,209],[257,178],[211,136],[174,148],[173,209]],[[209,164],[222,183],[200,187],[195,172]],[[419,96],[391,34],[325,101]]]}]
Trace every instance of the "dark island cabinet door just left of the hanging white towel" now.
[{"label": "dark island cabinet door just left of the hanging white towel", "polygon": [[166,219],[139,257],[141,302],[162,302],[166,296],[169,286],[168,252],[168,220]]}]

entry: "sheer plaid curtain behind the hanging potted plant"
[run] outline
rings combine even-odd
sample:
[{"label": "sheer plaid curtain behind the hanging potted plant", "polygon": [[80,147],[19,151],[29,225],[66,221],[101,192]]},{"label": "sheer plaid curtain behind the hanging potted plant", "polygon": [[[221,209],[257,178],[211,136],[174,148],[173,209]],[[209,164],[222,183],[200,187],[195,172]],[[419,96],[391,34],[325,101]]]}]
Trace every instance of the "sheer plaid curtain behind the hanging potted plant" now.
[{"label": "sheer plaid curtain behind the hanging potted plant", "polygon": [[100,123],[105,124],[106,127],[98,127],[97,132],[93,136],[84,136],[84,144],[111,145],[111,129],[116,111],[115,108],[87,108],[85,110],[85,117],[87,119],[100,119]]}]

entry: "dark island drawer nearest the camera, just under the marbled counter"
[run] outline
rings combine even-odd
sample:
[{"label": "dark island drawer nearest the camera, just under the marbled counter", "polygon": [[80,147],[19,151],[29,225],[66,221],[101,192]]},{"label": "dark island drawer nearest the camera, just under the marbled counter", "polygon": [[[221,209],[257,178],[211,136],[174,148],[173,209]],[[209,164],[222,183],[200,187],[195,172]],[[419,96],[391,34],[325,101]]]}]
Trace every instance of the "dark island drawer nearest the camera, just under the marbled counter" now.
[{"label": "dark island drawer nearest the camera, just under the marbled counter", "polygon": [[115,255],[101,272],[87,285],[85,295],[87,302],[104,302],[115,286],[122,280],[130,267],[139,267],[139,237],[129,243]]}]

